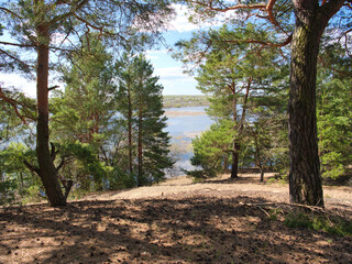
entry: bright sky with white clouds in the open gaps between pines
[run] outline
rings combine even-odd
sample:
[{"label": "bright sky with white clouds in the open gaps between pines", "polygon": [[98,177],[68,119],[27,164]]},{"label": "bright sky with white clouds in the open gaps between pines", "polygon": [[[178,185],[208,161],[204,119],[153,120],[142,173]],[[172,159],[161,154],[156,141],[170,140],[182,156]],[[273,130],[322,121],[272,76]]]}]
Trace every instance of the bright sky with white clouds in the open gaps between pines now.
[{"label": "bright sky with white clouds in the open gaps between pines", "polygon": [[[174,8],[176,10],[176,16],[170,21],[167,31],[164,33],[165,41],[169,47],[173,47],[179,40],[190,38],[191,32],[199,29],[199,26],[188,22],[185,15],[187,11],[185,7],[174,4]],[[226,16],[228,16],[228,14]],[[221,23],[221,18],[218,22]],[[209,24],[204,26],[209,26]],[[196,89],[197,81],[194,77],[183,73],[182,63],[172,58],[172,54],[167,52],[167,47],[146,51],[145,55],[152,62],[155,75],[160,77],[160,84],[164,86],[164,95],[201,95],[201,92]],[[35,81],[24,79],[16,74],[0,74],[0,81],[1,80],[6,87],[16,87],[32,98],[36,96]],[[63,84],[58,85],[61,87],[64,86]]]}]

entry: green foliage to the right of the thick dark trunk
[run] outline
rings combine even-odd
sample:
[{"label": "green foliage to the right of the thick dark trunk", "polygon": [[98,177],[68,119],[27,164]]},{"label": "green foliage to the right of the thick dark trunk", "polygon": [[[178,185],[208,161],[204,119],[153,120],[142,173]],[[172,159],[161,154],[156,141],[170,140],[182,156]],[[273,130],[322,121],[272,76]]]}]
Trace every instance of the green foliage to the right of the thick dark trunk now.
[{"label": "green foliage to the right of the thick dark trunk", "polygon": [[351,59],[336,44],[322,50],[317,86],[317,121],[322,177],[346,174],[352,161]]}]

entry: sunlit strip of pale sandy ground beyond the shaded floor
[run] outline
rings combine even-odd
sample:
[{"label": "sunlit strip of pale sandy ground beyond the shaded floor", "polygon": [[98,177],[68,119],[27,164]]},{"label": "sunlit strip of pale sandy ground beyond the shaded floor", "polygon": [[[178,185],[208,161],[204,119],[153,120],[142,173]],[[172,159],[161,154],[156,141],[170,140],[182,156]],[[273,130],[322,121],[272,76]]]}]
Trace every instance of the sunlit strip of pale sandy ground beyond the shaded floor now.
[{"label": "sunlit strip of pale sandy ground beyond the shaded floor", "polygon": [[[266,174],[266,178],[273,177],[274,174]],[[217,178],[206,180],[204,183],[194,183],[187,176],[170,178],[160,185],[140,187],[135,189],[124,190],[121,193],[106,193],[103,195],[91,195],[88,199],[98,200],[116,200],[116,199],[142,199],[142,198],[163,198],[177,195],[209,195],[235,197],[239,194],[261,195],[266,199],[273,198],[273,201],[279,199],[282,202],[289,202],[287,184],[267,184],[258,182],[255,174],[240,174],[239,179],[230,179],[229,175],[221,175]],[[352,207],[352,188],[345,186],[324,186],[323,187],[326,207],[342,206]]]}]

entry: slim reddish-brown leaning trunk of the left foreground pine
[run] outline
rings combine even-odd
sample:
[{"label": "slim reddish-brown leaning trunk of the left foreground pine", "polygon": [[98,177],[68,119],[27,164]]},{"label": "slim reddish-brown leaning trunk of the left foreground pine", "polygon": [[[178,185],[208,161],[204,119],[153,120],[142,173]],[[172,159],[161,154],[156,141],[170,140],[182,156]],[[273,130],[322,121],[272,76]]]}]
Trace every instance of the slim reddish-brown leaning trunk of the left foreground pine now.
[{"label": "slim reddish-brown leaning trunk of the left foreground pine", "polygon": [[66,199],[61,189],[57,172],[48,146],[48,25],[37,26],[40,44],[37,47],[36,69],[36,97],[37,97],[37,124],[36,124],[36,154],[38,175],[43,182],[45,193],[51,206],[65,206]]}]

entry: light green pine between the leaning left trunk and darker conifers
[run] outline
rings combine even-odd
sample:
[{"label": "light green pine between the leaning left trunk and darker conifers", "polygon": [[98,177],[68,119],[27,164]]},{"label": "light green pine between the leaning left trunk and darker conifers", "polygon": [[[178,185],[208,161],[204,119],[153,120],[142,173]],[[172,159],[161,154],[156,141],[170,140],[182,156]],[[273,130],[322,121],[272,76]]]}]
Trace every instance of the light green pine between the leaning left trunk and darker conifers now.
[{"label": "light green pine between the leaning left trunk and darker conifers", "polygon": [[[63,80],[66,84],[65,91],[57,92],[59,97],[52,98],[52,138],[61,143],[61,153],[65,167],[73,166],[77,158],[88,161],[81,155],[72,160],[70,165],[65,162],[65,156],[79,154],[78,150],[91,151],[96,156],[91,162],[99,163],[100,152],[110,133],[113,114],[116,113],[116,85],[113,84],[112,55],[98,37],[91,37],[89,46],[82,43],[79,54],[74,54],[72,59],[75,64],[72,67],[63,68]],[[110,133],[111,135],[111,133]],[[72,151],[72,153],[69,153]],[[87,154],[86,155],[91,155]],[[95,184],[96,189],[102,188],[102,175],[94,175],[94,183],[87,178],[91,170],[81,165],[78,169],[70,167],[76,175],[67,175],[69,178],[79,175],[79,185],[89,189]],[[99,166],[98,166],[99,167]],[[67,169],[66,169],[67,170]],[[66,178],[63,176],[63,178]]]}]

